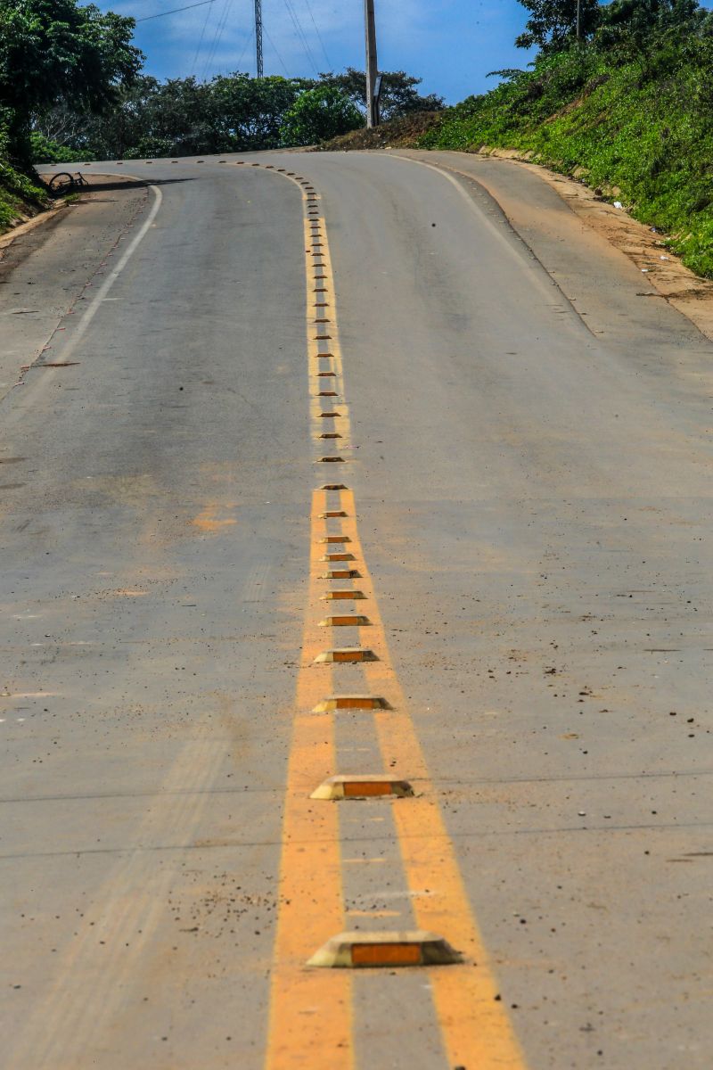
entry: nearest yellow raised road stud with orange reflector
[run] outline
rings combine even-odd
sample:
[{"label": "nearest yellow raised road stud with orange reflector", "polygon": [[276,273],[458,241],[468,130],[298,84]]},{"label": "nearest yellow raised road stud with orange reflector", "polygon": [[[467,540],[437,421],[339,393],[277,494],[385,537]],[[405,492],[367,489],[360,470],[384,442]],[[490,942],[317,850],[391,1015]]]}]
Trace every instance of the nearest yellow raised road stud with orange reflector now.
[{"label": "nearest yellow raised road stud with orange reflector", "polygon": [[447,966],[463,961],[448,941],[423,930],[338,933],[308,961],[308,966],[358,969],[388,966]]}]

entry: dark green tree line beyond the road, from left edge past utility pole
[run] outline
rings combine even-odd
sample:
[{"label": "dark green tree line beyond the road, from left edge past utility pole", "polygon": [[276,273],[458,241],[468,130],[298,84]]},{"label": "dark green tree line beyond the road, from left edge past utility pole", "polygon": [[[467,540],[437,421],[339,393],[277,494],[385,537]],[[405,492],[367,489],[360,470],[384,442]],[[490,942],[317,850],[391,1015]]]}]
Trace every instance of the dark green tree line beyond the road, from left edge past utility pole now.
[{"label": "dark green tree line beyond the road, from left edge past utility pole", "polygon": [[[43,198],[31,164],[277,149],[363,122],[358,71],[160,82],[141,74],[134,27],[78,0],[0,0],[1,227]],[[383,82],[387,116],[443,105],[403,71]]]}]

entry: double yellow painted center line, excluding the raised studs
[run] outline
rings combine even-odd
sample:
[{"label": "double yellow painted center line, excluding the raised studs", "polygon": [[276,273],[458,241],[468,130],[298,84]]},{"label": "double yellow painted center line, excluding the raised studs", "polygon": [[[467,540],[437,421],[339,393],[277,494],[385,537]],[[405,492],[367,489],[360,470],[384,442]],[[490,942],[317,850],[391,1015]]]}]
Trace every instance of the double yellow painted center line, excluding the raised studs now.
[{"label": "double yellow painted center line, excluding the raised studs", "polygon": [[[325,779],[351,771],[337,766],[335,724],[339,710],[325,703],[339,679],[339,661],[314,663],[325,647],[339,645],[331,641],[335,627],[324,624],[325,615],[334,607],[339,608],[339,602],[323,600],[325,574],[334,568],[359,572],[355,586],[363,600],[356,605],[359,613],[368,614],[368,646],[374,655],[373,660],[362,662],[361,671],[369,693],[385,700],[385,708],[371,708],[363,715],[373,718],[382,759],[382,769],[371,771],[388,770],[418,785],[415,796],[383,804],[392,807],[408,891],[430,889],[429,896],[412,897],[417,924],[444,936],[463,956],[460,964],[424,967],[429,969],[448,1063],[468,1070],[523,1070],[524,1058],[499,998],[453,843],[391,661],[359,538],[354,494],[346,486],[348,407],[321,199],[300,175],[267,169],[282,171],[303,189],[310,428],[315,469],[324,475],[325,486],[313,492],[311,502],[309,592],[288,764],[266,1070],[307,1066],[326,1070],[335,1065],[350,1070],[355,1065],[353,973],[307,965],[323,944],[345,928],[340,804],[310,798]],[[338,415],[325,417],[325,412]],[[325,433],[340,437],[324,438]],[[335,525],[345,541],[325,541],[328,535],[334,536]],[[343,564],[325,561],[330,553],[351,554],[352,560]],[[340,579],[335,585],[344,586],[344,582]]]}]

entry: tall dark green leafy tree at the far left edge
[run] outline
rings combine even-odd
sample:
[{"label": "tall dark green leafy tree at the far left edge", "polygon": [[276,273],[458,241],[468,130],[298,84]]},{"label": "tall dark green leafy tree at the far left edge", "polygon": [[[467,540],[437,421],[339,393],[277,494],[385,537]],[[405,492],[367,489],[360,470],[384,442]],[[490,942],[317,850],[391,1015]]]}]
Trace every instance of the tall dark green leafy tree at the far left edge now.
[{"label": "tall dark green leafy tree at the far left edge", "polygon": [[100,112],[143,57],[135,21],[76,0],[0,0],[0,108],[10,152],[29,159],[32,116],[56,105]]}]

